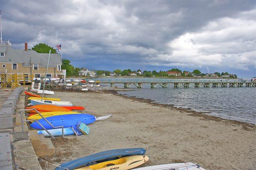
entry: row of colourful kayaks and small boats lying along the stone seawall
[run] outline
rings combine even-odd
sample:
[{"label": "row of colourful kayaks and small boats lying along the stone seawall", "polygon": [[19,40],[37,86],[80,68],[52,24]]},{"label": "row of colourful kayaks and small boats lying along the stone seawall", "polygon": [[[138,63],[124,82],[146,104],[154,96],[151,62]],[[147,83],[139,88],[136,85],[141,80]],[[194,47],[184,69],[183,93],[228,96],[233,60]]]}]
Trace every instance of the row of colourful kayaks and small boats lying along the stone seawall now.
[{"label": "row of colourful kayaks and small boats lying along the stone seawall", "polygon": [[[55,104],[49,104],[49,101],[61,102],[59,98],[45,98],[46,100],[35,99],[35,94],[30,92],[25,92],[27,95],[31,96],[28,100],[31,101],[32,106],[26,107],[26,112],[29,113],[27,120],[30,121],[30,127],[37,129],[38,134],[44,134],[44,136],[50,136],[51,133],[53,136],[61,135],[82,135],[83,133],[79,130],[79,124],[91,124],[94,121],[105,120],[111,115],[96,117],[94,115],[75,112],[74,110],[84,110],[84,107],[81,106],[58,106]],[[51,99],[51,100],[49,100]],[[40,101],[35,102],[33,101]],[[41,103],[41,101],[48,101]],[[44,118],[43,118],[44,117]],[[50,124],[49,124],[50,123]],[[55,127],[63,127],[55,128]],[[46,130],[49,132],[47,132]]]}]

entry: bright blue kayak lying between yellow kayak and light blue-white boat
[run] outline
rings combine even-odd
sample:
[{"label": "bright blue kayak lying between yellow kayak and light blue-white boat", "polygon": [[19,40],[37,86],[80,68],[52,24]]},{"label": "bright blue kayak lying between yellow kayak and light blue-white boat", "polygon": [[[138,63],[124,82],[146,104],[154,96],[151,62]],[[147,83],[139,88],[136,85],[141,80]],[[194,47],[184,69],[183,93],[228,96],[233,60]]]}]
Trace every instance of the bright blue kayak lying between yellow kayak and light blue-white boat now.
[{"label": "bright blue kayak lying between yellow kayak and light blue-white boat", "polygon": [[[79,121],[83,122],[84,124],[91,124],[95,121],[95,116],[79,113],[79,114],[70,114],[70,115],[50,116],[50,117],[47,117],[46,119],[54,127],[58,127],[58,126],[71,127],[78,124]],[[52,129],[52,127],[47,123],[47,121],[45,121],[43,118],[38,120],[38,122],[42,124],[47,130]],[[43,128],[36,121],[30,124],[30,127],[43,130]]]}]

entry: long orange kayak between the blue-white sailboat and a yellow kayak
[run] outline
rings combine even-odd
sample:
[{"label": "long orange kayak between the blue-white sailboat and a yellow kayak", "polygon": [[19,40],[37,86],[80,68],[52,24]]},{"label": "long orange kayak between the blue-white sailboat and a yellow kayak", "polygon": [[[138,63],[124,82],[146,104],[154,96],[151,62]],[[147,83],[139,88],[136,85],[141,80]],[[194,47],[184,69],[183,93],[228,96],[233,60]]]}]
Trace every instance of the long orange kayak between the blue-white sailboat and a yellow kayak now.
[{"label": "long orange kayak between the blue-white sailboat and a yellow kayak", "polygon": [[[39,104],[31,107],[26,107],[26,109],[33,109],[33,108],[37,109],[39,112],[58,112],[58,111],[70,112],[71,111],[70,109],[67,109],[64,107],[49,105],[49,104]],[[28,110],[26,112],[31,114],[37,113],[35,110]]]}]

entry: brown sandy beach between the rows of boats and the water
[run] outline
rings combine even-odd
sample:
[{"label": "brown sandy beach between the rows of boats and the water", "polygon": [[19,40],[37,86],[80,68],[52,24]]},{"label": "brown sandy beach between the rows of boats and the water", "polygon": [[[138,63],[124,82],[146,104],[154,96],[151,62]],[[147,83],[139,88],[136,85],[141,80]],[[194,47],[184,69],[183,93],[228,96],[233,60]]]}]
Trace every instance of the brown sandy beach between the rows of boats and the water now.
[{"label": "brown sandy beach between the rows of boats and the water", "polygon": [[143,147],[149,157],[143,166],[193,162],[207,170],[256,169],[254,125],[107,92],[55,92],[55,97],[84,106],[85,113],[112,117],[89,124],[90,135],[52,139],[55,154],[45,158],[51,163]]}]

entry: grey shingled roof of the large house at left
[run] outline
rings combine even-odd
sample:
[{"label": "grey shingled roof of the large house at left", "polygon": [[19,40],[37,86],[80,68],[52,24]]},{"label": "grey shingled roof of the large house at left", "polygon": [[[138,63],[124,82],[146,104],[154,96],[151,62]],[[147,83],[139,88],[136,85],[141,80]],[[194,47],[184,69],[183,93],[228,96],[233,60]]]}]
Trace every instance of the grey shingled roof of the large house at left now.
[{"label": "grey shingled roof of the large house at left", "polygon": [[[6,48],[5,56],[0,57],[0,62],[23,63],[23,66],[31,66],[31,64],[40,64],[40,66],[47,66],[48,53],[38,53],[33,50],[12,49],[12,46],[5,45],[0,47],[0,51]],[[61,64],[60,54],[51,54],[49,66]]]}]

